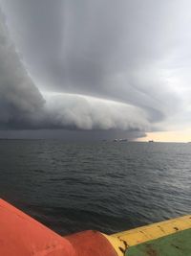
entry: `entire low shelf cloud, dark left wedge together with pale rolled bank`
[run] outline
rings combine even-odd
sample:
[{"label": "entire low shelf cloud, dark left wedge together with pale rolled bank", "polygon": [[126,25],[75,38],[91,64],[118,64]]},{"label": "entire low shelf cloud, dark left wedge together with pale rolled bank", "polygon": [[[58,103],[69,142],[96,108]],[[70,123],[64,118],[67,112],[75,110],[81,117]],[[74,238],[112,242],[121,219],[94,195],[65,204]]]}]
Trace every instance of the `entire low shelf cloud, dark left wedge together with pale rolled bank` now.
[{"label": "entire low shelf cloud, dark left wedge together with pale rolled bank", "polygon": [[11,42],[0,13],[0,128],[145,130],[146,114],[134,105],[64,93],[41,93]]}]

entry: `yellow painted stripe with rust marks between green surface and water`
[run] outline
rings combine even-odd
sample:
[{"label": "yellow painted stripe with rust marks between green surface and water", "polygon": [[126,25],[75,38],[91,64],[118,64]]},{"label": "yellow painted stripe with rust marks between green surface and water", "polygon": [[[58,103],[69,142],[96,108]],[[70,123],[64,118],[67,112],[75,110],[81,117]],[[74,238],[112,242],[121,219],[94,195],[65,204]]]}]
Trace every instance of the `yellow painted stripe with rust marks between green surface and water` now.
[{"label": "yellow painted stripe with rust marks between green surface and water", "polygon": [[188,228],[191,228],[191,215],[134,228],[111,236],[103,235],[116,249],[117,255],[123,256],[125,250],[130,246],[165,237]]}]

